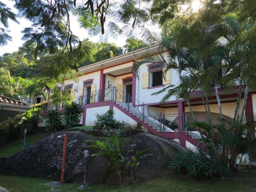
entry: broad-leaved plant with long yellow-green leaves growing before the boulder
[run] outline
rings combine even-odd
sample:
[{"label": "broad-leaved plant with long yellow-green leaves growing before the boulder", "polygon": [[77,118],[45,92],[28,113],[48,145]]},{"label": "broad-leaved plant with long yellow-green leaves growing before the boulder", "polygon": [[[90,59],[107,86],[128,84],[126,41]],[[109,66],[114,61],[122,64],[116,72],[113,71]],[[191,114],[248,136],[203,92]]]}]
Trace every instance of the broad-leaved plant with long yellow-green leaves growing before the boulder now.
[{"label": "broad-leaved plant with long yellow-green leaves growing before the boulder", "polygon": [[98,148],[100,151],[97,154],[92,154],[91,156],[102,155],[110,161],[110,166],[115,169],[116,174],[119,176],[120,184],[127,177],[129,183],[133,183],[133,177],[137,166],[139,166],[139,160],[145,158],[146,156],[153,154],[143,153],[149,148],[144,150],[138,150],[135,154],[134,146],[125,144],[124,141],[115,136],[112,138],[107,138],[108,143],[100,141],[89,141],[92,145],[86,147]]}]

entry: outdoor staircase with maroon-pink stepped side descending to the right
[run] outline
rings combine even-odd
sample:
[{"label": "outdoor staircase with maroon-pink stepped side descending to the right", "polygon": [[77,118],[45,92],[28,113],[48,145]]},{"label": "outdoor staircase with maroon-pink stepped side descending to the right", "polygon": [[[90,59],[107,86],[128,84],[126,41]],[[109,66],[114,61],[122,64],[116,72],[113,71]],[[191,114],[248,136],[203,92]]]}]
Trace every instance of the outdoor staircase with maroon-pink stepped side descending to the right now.
[{"label": "outdoor staircase with maroon-pink stepped side descending to the right", "polygon": [[167,139],[180,139],[180,144],[184,147],[186,147],[186,141],[188,141],[197,148],[203,148],[203,143],[200,143],[200,141],[198,140],[200,138],[198,136],[195,136],[193,134],[189,135],[187,132],[173,131],[168,127],[165,127],[165,131],[162,132],[160,130],[160,127],[157,125],[156,122],[154,122],[154,119],[152,117],[143,118],[143,115],[139,113],[137,108],[128,108],[128,106],[125,103],[119,101],[113,101],[113,106],[115,106],[121,112],[131,117],[133,120],[137,121],[139,124],[141,124],[143,127],[148,129],[151,133],[154,133],[155,135]]}]

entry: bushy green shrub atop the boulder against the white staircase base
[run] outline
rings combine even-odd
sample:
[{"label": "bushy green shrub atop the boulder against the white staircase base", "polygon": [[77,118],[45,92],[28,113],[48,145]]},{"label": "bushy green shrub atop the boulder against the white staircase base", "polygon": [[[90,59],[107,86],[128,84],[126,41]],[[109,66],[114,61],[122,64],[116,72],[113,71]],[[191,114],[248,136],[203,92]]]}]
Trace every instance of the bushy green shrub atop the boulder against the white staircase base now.
[{"label": "bushy green shrub atop the boulder against the white staircase base", "polygon": [[96,113],[96,119],[94,129],[121,129],[125,126],[125,123],[114,119],[113,110],[108,110],[102,114]]}]

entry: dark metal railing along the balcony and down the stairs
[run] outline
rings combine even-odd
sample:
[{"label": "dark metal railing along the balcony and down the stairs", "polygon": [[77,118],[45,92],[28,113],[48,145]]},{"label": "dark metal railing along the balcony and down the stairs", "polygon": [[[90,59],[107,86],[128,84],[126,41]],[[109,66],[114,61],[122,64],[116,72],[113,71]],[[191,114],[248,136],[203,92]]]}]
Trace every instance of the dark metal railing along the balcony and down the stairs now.
[{"label": "dark metal railing along the balcony and down the stairs", "polygon": [[[167,129],[172,129],[173,131],[178,131],[178,122],[182,121],[183,131],[187,131],[186,125],[188,124],[187,113],[181,114],[163,114],[161,112],[156,112],[152,107],[147,106],[144,102],[137,100],[130,94],[126,94],[123,90],[118,89],[116,86],[112,88],[106,88],[101,90],[92,91],[85,95],[75,97],[75,102],[79,104],[80,107],[84,105],[110,101],[113,100],[121,102],[123,106],[126,106],[128,111],[133,110],[133,112],[141,115],[143,120],[148,119],[154,123],[155,126],[159,127],[161,132],[165,132]],[[49,110],[61,110],[65,104],[53,105],[49,104]]]}]

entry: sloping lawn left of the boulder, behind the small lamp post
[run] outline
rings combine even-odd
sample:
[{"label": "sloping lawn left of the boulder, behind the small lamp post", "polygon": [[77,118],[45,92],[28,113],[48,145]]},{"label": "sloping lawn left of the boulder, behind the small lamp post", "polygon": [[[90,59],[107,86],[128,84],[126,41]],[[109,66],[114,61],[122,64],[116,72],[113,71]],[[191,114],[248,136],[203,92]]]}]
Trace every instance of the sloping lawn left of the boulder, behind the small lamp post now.
[{"label": "sloping lawn left of the boulder, behind the small lamp post", "polygon": [[[36,141],[39,141],[49,135],[50,133],[45,133],[40,135],[28,135],[26,137],[26,146],[30,146],[31,144],[36,143]],[[21,151],[22,146],[23,146],[23,138],[10,141],[10,143],[8,143],[7,145],[0,147],[0,157],[12,156],[15,153]]]}]

